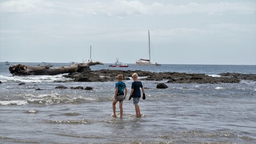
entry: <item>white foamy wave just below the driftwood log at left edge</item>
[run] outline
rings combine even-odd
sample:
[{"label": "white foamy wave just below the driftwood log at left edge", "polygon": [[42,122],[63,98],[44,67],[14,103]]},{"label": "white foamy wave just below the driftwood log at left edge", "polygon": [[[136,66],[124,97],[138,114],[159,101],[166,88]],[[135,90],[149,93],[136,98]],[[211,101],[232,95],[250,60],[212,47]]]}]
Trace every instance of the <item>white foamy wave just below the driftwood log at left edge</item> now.
[{"label": "white foamy wave just below the driftwood log at left edge", "polygon": [[70,81],[70,78],[57,76],[2,76],[0,75],[0,81],[6,83],[25,82],[25,83],[40,83],[40,82],[66,82]]}]

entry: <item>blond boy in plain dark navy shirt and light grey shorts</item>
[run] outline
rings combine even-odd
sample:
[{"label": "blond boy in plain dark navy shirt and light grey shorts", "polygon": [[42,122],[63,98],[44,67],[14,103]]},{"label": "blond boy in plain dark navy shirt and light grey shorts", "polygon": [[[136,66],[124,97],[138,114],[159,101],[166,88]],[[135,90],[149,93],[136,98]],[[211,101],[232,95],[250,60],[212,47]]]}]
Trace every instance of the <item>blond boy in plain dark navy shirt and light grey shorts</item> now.
[{"label": "blond boy in plain dark navy shirt and light grey shorts", "polygon": [[129,97],[129,101],[131,100],[131,97],[132,97],[133,100],[134,100],[136,116],[141,117],[140,107],[139,107],[139,100],[140,100],[140,97],[141,97],[140,88],[141,88],[142,93],[143,93],[143,97],[142,97],[143,100],[146,99],[145,91],[144,91],[144,88],[142,86],[141,81],[138,81],[137,73],[132,74],[132,79],[134,80],[134,82],[131,83],[131,94],[130,94],[130,97]]}]

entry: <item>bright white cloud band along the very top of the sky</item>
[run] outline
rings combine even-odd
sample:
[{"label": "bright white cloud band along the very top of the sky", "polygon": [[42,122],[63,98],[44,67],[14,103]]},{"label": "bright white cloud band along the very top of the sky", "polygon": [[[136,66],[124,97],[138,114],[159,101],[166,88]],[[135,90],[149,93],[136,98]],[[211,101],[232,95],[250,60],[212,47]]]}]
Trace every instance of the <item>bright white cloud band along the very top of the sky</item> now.
[{"label": "bright white cloud band along the very top of the sky", "polygon": [[140,1],[98,1],[87,3],[67,3],[66,1],[44,0],[13,0],[0,3],[1,13],[60,13],[77,16],[140,16],[140,15],[176,15],[205,13],[210,15],[236,13],[252,14],[256,11],[253,2],[219,2],[219,3],[188,3],[174,5],[171,3],[149,3]]}]

